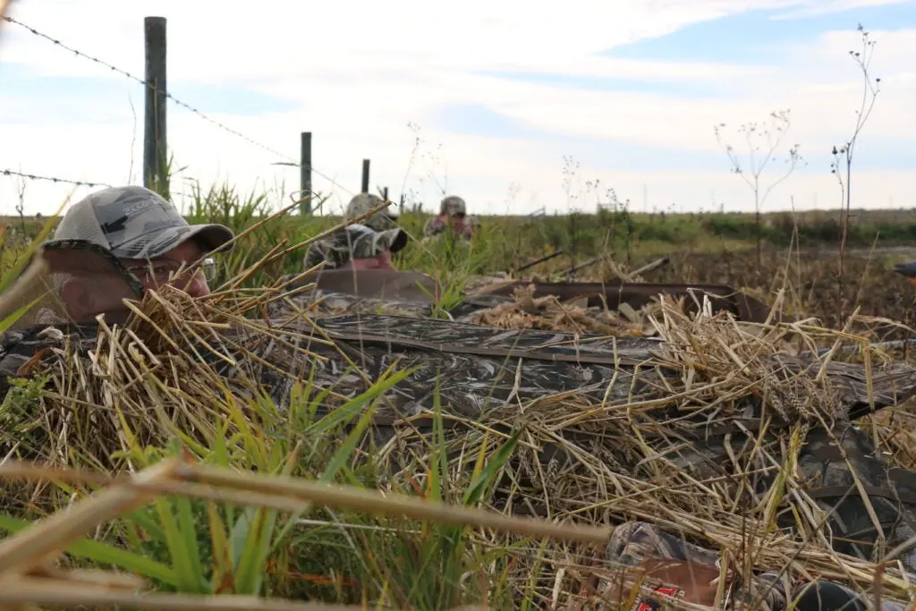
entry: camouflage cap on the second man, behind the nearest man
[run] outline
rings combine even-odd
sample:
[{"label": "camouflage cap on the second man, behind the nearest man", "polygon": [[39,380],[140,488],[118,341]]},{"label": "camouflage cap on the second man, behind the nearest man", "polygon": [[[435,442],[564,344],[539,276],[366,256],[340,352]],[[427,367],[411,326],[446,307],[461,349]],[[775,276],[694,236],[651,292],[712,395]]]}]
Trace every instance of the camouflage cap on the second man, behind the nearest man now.
[{"label": "camouflage cap on the second man, behind the nearest man", "polygon": [[364,224],[351,224],[318,242],[305,254],[306,269],[324,261],[325,269],[343,267],[353,259],[366,259],[389,251],[398,252],[407,245],[407,234],[401,229],[375,231]]}]

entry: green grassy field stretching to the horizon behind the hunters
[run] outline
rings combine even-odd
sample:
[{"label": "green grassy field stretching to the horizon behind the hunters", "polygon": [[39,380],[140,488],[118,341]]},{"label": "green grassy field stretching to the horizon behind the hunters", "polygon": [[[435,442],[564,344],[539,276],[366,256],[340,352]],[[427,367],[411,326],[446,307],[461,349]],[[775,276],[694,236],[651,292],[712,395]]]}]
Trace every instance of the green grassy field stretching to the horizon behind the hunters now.
[{"label": "green grassy field stretching to the horizon behind the hunters", "polygon": [[[231,278],[268,253],[300,245],[327,231],[341,219],[292,213],[271,218],[281,200],[272,193],[241,194],[231,187],[196,191],[185,209],[191,223],[220,223],[241,233],[259,224],[255,233],[219,261],[217,282]],[[289,206],[289,202],[282,204]],[[421,237],[427,214],[406,211],[399,224]],[[838,245],[841,213],[772,213],[763,216],[761,256],[756,253],[753,214],[637,214],[601,210],[597,214],[556,214],[535,218],[482,216],[483,226],[470,248],[452,251],[442,246],[414,243],[395,256],[396,267],[422,271],[450,286],[463,286],[469,276],[512,274],[541,256],[562,251],[548,262],[529,267],[527,278],[611,278],[606,265],[586,265],[573,277],[565,270],[607,256],[616,264],[637,268],[660,256],[671,264],[652,272],[647,281],[703,282],[748,289],[764,300],[784,282],[796,298],[793,308],[817,317],[829,326],[851,313],[911,322],[909,282],[889,271],[893,263],[916,258],[916,216],[907,211],[852,211],[840,277]],[[5,217],[6,271],[20,260],[45,223],[55,218]],[[433,250],[431,250],[433,248]],[[266,286],[277,278],[302,271],[305,248],[290,250],[272,263],[258,267],[248,286]]]}]

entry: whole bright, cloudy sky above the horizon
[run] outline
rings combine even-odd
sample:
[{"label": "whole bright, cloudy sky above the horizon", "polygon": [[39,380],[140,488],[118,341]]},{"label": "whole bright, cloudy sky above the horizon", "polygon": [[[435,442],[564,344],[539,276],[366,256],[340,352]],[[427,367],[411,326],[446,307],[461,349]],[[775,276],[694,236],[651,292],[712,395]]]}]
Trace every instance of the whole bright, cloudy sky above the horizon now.
[{"label": "whole bright, cloudy sky above the horizon", "polygon": [[[852,205],[916,207],[916,0],[536,6],[15,0],[9,16],[140,79],[144,17],[166,17],[169,93],[209,119],[169,102],[176,202],[195,184],[228,184],[291,203],[300,171],[278,163],[298,163],[311,132],[312,186],[329,213],[360,190],[365,158],[372,191],[428,212],[444,194],[481,214],[591,212],[613,196],[637,212],[753,212],[747,180],[782,111],[790,123],[759,173],[760,209],[835,209],[831,152],[855,133],[867,91],[850,55],[864,50],[861,24],[875,41],[870,85],[880,82],[856,140]],[[0,214],[20,202],[54,213],[101,188],[7,169],[141,183],[144,104],[139,82],[0,23]]]}]

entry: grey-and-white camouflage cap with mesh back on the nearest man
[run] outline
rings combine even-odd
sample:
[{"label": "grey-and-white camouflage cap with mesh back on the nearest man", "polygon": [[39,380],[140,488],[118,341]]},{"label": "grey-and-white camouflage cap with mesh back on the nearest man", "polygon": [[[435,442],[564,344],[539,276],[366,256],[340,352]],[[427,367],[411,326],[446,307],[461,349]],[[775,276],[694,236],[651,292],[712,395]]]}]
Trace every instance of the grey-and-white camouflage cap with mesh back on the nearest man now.
[{"label": "grey-and-white camouflage cap with mesh back on the nearest man", "polygon": [[95,191],[64,214],[50,243],[87,240],[120,258],[164,255],[198,238],[205,251],[229,250],[231,229],[221,224],[188,224],[174,205],[143,187],[113,187]]}]

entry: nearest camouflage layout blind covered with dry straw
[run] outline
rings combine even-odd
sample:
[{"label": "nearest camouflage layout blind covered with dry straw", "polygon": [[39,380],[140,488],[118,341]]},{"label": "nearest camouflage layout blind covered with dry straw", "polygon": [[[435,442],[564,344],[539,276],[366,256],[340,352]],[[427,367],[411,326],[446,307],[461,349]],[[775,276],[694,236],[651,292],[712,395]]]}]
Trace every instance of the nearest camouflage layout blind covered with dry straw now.
[{"label": "nearest camouflage layout blind covered with dry straw", "polygon": [[[383,487],[405,477],[422,484],[438,391],[453,481],[467,481],[469,457],[495,453],[520,430],[488,505],[655,524],[724,554],[738,584],[728,592],[734,600],[755,591],[754,575],[774,571],[867,589],[872,562],[916,535],[916,474],[889,471],[854,423],[916,395],[916,369],[799,352],[816,336],[839,333],[708,311],[689,317],[670,300],[640,314],[652,338],[359,311],[311,318],[303,305],[270,305],[251,293],[194,302],[166,288],[126,327],[23,337],[23,362],[49,343],[56,348],[43,361],[51,378],[38,418],[49,435],[31,449],[66,463],[79,447],[125,468],[114,458],[125,450],[122,418],[148,441],[175,431],[206,437],[215,421],[231,434],[237,422],[226,415],[239,399],[267,397],[278,413],[247,417],[279,434],[288,431],[282,414],[295,409],[291,401],[320,398],[332,410],[408,371],[382,394],[366,441],[387,465]],[[72,341],[81,334],[81,344]],[[38,371],[30,363],[23,373]],[[221,389],[226,380],[234,397]],[[68,428],[74,409],[92,410],[84,420],[92,425]],[[519,549],[511,573],[519,591],[529,584],[532,545]],[[590,576],[613,569],[594,550],[565,544],[549,546],[546,561],[541,571],[551,577],[538,585],[561,605],[576,602]],[[900,562],[884,573],[886,595],[907,596],[902,569],[916,571],[916,554],[907,549]]]}]

